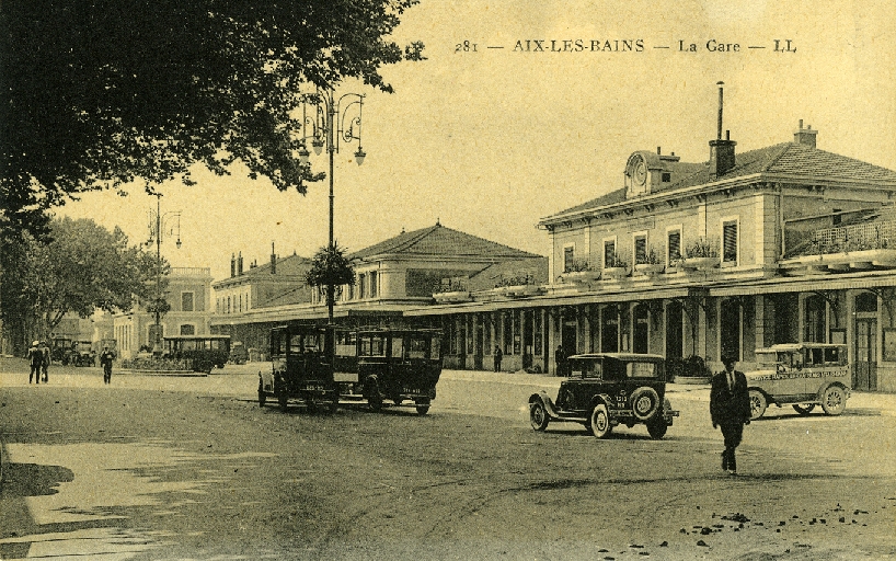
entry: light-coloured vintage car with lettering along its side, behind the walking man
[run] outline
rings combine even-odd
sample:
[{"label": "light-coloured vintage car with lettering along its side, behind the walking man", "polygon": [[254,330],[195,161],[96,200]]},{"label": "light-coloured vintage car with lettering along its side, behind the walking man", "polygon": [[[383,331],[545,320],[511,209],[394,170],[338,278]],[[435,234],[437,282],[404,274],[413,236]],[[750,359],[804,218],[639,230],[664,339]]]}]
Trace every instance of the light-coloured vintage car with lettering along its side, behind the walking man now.
[{"label": "light-coloured vintage car with lettering along its side, behind the walking man", "polygon": [[839,415],[847,407],[851,376],[847,346],[793,343],[756,350],[759,369],[745,373],[750,394],[750,419],[759,419],[769,403],[792,404],[807,415],[816,404],[825,414]]}]

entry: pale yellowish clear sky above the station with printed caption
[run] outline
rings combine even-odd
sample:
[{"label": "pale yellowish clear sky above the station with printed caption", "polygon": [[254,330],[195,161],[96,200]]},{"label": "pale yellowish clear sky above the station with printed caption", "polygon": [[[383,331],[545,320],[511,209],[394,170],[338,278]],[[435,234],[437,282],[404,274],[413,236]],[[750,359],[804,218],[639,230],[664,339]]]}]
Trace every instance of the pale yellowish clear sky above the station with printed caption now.
[{"label": "pale yellowish clear sky above the station with printed caption", "polygon": [[[382,69],[393,94],[336,90],[365,94],[367,158],[357,165],[357,144],[343,144],[333,174],[349,252],[438,221],[548,255],[538,221],[621,187],[632,152],[709,159],[719,81],[738,152],[791,141],[803,119],[819,149],[896,170],[896,0],[422,0],[393,38],[422,41],[427,57]],[[325,152],[312,165],[326,171]],[[174,266],[218,280],[233,253],[248,268],[272,243],[280,256],[326,244],[326,181],[301,196],[239,165],[194,180],[159,186],[165,232],[180,213],[181,248],[162,243]],[[128,191],[57,215],[145,242],[156,198]]]}]

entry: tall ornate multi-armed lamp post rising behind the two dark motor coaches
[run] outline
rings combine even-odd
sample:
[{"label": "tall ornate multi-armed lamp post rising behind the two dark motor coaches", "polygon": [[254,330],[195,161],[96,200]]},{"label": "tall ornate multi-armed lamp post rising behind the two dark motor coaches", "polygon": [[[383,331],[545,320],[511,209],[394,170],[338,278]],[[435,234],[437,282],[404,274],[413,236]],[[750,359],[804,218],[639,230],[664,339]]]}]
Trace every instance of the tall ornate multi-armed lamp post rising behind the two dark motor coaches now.
[{"label": "tall ornate multi-armed lamp post rising behind the two dark motor coaches", "polygon": [[[357,105],[357,115],[355,115],[355,105]],[[308,115],[308,107],[312,107],[312,115]],[[333,168],[336,152],[340,151],[340,141],[351,142],[358,141],[358,149],[355,151],[355,161],[358,165],[364,163],[364,158],[367,156],[361,148],[360,126],[361,126],[361,110],[364,108],[364,95],[359,93],[344,93],[338,99],[334,98],[333,90],[326,89],[318,91],[315,94],[308,94],[302,103],[302,127],[311,129],[310,135],[306,135],[301,139],[301,147],[299,148],[299,160],[302,163],[309,162],[311,156],[306,147],[306,140],[311,139],[311,146],[314,153],[320,156],[324,146],[330,152],[330,236],[329,236],[329,251],[334,250],[333,238]],[[326,285],[326,317],[330,323],[333,323],[333,305],[335,300],[335,285],[331,282]]]}]

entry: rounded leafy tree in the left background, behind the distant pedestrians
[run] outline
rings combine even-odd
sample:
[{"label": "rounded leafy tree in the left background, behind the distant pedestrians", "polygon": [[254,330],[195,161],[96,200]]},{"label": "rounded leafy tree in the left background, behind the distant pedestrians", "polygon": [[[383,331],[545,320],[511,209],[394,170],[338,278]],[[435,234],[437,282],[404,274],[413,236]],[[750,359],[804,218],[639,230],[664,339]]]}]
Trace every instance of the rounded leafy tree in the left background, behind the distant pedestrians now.
[{"label": "rounded leafy tree in the left background, behind the distant pedestrians", "polygon": [[20,267],[21,300],[42,339],[68,312],[87,318],[97,308],[129,310],[135,297],[152,294],[156,256],[129,247],[120,229],[110,232],[93,220],[62,218],[50,222],[49,237],[48,243],[30,241]]}]

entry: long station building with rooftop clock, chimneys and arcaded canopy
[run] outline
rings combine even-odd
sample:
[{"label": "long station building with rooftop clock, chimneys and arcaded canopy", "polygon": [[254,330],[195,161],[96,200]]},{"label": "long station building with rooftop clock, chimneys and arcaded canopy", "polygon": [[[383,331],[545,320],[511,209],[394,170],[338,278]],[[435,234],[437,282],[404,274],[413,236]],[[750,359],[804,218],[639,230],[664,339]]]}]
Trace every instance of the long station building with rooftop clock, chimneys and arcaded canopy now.
[{"label": "long station building with rooftop clock, chimneys and arcaded canopy", "polygon": [[[708,161],[635,151],[618,188],[541,219],[547,257],[438,224],[353,254],[335,320],[440,328],[446,368],[493,369],[501,350],[502,370],[550,374],[558,347],[715,370],[778,343],[841,343],[855,389],[896,391],[896,172],[817,137],[800,122],[792,141],[738,153],[720,110]],[[212,330],[254,329],[263,346],[274,324],[325,321],[312,293]]]}]

